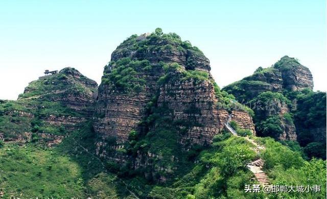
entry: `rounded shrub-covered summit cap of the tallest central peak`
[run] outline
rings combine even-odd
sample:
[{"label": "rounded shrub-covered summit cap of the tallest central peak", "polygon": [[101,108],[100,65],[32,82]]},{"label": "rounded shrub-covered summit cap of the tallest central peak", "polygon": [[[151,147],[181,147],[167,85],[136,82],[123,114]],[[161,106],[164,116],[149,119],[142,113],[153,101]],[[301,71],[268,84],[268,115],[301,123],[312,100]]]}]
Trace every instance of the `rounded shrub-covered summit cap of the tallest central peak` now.
[{"label": "rounded shrub-covered summit cap of the tallest central peak", "polygon": [[162,33],[157,28],[153,33],[132,35],[121,43],[111,55],[111,61],[129,57],[134,60],[146,59],[150,63],[159,61],[178,63],[186,69],[210,71],[209,60],[199,48],[189,41],[182,41],[176,33]]}]

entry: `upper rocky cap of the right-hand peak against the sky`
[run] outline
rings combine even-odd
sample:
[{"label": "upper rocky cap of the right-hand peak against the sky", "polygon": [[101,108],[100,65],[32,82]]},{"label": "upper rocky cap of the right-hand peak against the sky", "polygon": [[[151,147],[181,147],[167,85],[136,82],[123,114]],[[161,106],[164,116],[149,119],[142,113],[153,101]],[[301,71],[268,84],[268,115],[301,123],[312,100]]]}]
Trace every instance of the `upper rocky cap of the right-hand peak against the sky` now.
[{"label": "upper rocky cap of the right-hand peak against the sky", "polygon": [[232,83],[223,90],[233,94],[238,101],[248,102],[265,91],[296,91],[313,89],[313,79],[309,68],[296,59],[284,56],[269,68],[259,67],[252,76]]}]

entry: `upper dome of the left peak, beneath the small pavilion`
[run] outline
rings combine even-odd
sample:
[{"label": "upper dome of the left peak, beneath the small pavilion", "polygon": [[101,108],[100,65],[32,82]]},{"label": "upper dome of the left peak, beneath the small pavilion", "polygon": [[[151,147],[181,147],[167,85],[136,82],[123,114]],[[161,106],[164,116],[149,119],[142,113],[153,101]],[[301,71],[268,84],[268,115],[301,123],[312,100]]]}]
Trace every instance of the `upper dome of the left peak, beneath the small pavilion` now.
[{"label": "upper dome of the left peak, beneath the small pavilion", "polygon": [[39,99],[58,102],[76,110],[85,116],[93,113],[93,103],[97,96],[98,85],[71,67],[63,68],[59,73],[40,77],[31,82],[20,94],[19,99]]}]

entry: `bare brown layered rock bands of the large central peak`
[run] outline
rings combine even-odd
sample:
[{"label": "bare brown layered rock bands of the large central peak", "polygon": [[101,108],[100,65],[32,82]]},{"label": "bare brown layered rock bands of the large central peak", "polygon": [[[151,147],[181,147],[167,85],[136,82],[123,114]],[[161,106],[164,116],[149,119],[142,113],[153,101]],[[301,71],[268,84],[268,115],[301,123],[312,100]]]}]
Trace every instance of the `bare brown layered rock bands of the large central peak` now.
[{"label": "bare brown layered rock bands of the large central peak", "polygon": [[[147,37],[148,35],[136,37],[136,42],[144,42]],[[181,51],[176,45],[170,45],[168,48],[166,46],[168,43],[158,40],[150,43],[156,46],[155,48],[140,52],[132,41],[124,41],[112,53],[111,61],[115,62],[129,57],[135,60],[149,60],[152,65],[160,61],[167,64],[178,63],[186,70],[209,72],[211,69],[208,59],[192,49]],[[105,73],[110,73],[113,67],[114,65],[108,64]],[[158,107],[165,104],[168,109],[172,110],[172,114],[169,116],[174,120],[185,120],[192,123],[188,133],[180,136],[180,143],[211,143],[214,135],[223,130],[228,112],[216,108],[215,103],[218,102],[218,99],[215,96],[210,75],[210,81],[178,80],[182,77],[179,77],[180,74],[177,72],[173,74],[177,81],[171,81],[158,87],[156,82],[164,75],[162,69],[152,71],[152,74],[138,72],[137,77],[142,77],[147,82],[146,89],[139,93],[123,93],[114,90],[110,85],[100,85],[94,120],[95,131],[100,137],[104,139],[113,136],[119,143],[126,141],[131,130],[139,130],[139,122],[147,116],[146,104],[155,96],[157,90],[159,91]],[[198,112],[192,112],[192,110]],[[224,113],[222,114],[222,112]],[[235,112],[235,115],[235,120],[241,128],[247,128],[254,132],[253,122],[246,112]]]}]

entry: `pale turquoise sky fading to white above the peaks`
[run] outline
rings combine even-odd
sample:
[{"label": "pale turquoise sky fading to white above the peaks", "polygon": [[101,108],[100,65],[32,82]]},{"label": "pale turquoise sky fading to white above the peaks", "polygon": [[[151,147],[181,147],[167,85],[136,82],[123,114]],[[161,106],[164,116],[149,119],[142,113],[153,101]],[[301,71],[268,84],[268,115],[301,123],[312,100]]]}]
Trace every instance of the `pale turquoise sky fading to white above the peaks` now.
[{"label": "pale turquoise sky fading to white above the peaks", "polygon": [[199,47],[220,87],[288,55],[326,91],[322,0],[0,0],[0,99],[16,99],[45,69],[72,66],[100,84],[116,46],[158,27]]}]

